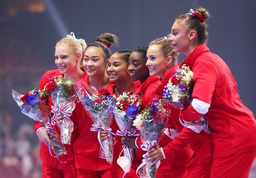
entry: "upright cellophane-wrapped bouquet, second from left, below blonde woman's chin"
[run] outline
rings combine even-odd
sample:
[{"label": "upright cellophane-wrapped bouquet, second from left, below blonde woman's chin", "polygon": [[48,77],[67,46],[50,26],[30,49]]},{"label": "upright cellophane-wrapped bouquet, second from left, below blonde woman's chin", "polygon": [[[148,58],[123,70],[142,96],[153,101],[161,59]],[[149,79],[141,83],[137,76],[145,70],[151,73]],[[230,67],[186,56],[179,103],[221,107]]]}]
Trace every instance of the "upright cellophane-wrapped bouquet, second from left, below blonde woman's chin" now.
[{"label": "upright cellophane-wrapped bouquet, second from left, below blonde woman's chin", "polygon": [[61,143],[71,144],[71,135],[74,124],[70,119],[75,108],[76,93],[74,90],[75,80],[70,80],[62,76],[54,76],[44,87],[44,94],[51,95],[53,102],[51,112],[53,118],[58,113],[64,116],[64,119],[57,124],[60,127]]}]

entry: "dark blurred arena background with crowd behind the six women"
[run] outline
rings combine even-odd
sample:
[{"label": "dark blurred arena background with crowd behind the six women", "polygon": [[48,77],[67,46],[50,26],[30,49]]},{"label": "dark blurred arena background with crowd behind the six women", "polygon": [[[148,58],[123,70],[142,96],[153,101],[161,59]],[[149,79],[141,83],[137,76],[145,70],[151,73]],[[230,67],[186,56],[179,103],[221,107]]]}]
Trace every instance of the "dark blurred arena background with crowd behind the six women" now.
[{"label": "dark blurred arena background with crowd behind the six women", "polygon": [[[75,32],[91,43],[111,32],[119,37],[118,49],[133,50],[166,36],[176,16],[198,6],[212,15],[206,21],[209,48],[229,65],[243,103],[255,114],[254,0],[0,0],[0,177],[41,177],[33,120],[20,112],[11,90],[32,90],[55,69],[60,38]],[[256,177],[255,162],[250,177]]]}]

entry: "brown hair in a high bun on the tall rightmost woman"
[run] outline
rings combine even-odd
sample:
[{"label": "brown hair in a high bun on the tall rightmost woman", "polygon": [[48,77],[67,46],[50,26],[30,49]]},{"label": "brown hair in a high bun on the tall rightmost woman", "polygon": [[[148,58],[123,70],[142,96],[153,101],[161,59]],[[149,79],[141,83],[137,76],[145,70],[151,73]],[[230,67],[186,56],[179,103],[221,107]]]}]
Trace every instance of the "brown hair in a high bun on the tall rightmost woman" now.
[{"label": "brown hair in a high bun on the tall rightmost woman", "polygon": [[[204,19],[207,19],[210,16],[209,12],[202,7],[198,7],[196,12],[202,15]],[[208,32],[206,31],[207,25],[205,21],[201,21],[199,18],[191,15],[190,13],[179,15],[175,21],[176,20],[184,20],[185,24],[188,25],[189,30],[196,30],[198,44],[207,42]]]}]

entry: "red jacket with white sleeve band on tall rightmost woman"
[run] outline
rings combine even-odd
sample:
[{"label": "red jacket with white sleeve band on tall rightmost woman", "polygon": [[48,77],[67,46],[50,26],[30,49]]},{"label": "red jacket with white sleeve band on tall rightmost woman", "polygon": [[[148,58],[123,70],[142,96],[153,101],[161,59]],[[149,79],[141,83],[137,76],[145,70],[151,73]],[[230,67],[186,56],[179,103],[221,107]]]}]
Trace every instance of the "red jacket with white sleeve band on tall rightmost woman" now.
[{"label": "red jacket with white sleeve band on tall rightmost woman", "polygon": [[197,46],[182,64],[194,72],[192,96],[201,105],[193,100],[182,110],[181,119],[197,120],[206,113],[214,137],[214,158],[256,149],[255,117],[240,100],[227,64],[206,44]]}]

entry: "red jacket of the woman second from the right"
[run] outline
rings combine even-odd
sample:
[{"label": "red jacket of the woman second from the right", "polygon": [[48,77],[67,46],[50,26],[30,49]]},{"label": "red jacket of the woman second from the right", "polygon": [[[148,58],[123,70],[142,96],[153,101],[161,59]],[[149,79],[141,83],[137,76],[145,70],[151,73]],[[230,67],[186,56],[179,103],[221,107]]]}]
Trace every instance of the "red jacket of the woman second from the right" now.
[{"label": "red jacket of the woman second from the right", "polygon": [[[157,93],[160,97],[163,96],[163,90],[168,80],[179,68],[175,65],[173,68],[169,69],[163,79],[161,85],[157,88]],[[212,138],[211,135],[207,135],[204,131],[196,133],[193,130],[183,127],[179,122],[180,109],[174,108],[171,105],[167,105],[170,113],[169,127],[176,128],[180,133],[174,138],[172,142],[163,145],[163,151],[167,159],[173,159],[176,154],[180,152],[180,149],[188,145],[194,151],[193,160],[190,164],[208,164],[212,162]]]}]

